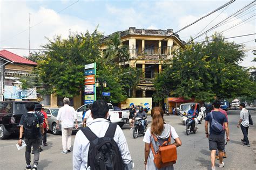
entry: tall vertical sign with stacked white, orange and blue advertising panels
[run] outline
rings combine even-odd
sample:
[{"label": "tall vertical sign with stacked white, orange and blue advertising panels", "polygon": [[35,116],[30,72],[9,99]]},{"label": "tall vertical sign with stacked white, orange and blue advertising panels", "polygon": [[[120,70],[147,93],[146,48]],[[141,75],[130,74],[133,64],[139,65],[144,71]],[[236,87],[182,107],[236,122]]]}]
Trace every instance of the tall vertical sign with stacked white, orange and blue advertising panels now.
[{"label": "tall vertical sign with stacked white, orange and blue advertising panels", "polygon": [[96,101],[96,62],[84,65],[84,104]]}]

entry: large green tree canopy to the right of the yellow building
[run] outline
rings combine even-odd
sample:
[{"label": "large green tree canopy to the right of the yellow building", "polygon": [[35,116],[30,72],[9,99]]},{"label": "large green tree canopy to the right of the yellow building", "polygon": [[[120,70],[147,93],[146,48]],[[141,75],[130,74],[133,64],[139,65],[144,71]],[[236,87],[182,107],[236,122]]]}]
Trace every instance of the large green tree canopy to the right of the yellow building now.
[{"label": "large green tree canopy to the right of the yellow building", "polygon": [[250,95],[248,70],[238,65],[245,56],[243,45],[214,34],[203,44],[186,45],[174,54],[155,83],[154,101],[164,97],[195,98],[197,101]]}]

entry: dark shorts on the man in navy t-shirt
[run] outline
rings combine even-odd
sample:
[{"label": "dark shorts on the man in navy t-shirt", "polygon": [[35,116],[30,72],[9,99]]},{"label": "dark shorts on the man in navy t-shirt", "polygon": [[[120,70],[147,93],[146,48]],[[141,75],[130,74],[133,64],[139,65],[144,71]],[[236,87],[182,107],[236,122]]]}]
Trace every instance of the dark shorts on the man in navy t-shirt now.
[{"label": "dark shorts on the man in navy t-shirt", "polygon": [[223,151],[225,148],[225,133],[223,134],[210,134],[209,148],[212,150]]}]

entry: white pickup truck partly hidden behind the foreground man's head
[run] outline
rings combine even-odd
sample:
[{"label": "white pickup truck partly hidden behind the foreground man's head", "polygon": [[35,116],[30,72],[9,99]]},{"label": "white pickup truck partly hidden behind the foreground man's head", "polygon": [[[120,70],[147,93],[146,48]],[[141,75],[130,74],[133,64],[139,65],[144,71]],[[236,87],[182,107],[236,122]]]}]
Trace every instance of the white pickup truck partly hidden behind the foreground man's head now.
[{"label": "white pickup truck partly hidden behind the foreground man's head", "polygon": [[[110,121],[113,123],[117,123],[120,127],[123,127],[123,125],[129,121],[129,110],[122,110],[118,107],[113,107],[111,103],[108,104]],[[78,115],[83,116],[83,112],[86,111],[86,108],[87,104],[84,104],[80,108],[78,108]]]}]

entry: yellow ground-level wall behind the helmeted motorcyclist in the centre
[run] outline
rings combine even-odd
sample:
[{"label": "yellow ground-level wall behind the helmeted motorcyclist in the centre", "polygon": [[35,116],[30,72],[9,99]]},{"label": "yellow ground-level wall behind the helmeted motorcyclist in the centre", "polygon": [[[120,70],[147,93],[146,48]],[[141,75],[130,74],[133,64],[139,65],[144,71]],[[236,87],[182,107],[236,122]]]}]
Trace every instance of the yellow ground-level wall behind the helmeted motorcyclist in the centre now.
[{"label": "yellow ground-level wall behind the helmeted motorcyclist in the centre", "polygon": [[147,114],[151,114],[151,109],[152,109],[151,97],[127,98],[124,102],[121,102],[121,108],[122,109],[129,108],[131,103],[133,103],[134,105],[142,105],[143,108],[146,107],[145,103],[149,103],[150,111]]}]

